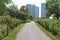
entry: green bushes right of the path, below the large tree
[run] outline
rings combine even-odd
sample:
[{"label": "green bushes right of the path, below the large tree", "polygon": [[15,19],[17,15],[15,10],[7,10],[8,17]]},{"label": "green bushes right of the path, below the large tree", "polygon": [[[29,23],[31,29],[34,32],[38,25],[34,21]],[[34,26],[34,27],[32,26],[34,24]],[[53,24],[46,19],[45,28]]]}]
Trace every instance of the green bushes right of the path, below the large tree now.
[{"label": "green bushes right of the path, below the large tree", "polygon": [[38,19],[36,20],[37,23],[42,25],[45,29],[50,31],[54,35],[59,35],[60,33],[60,21],[56,19]]}]

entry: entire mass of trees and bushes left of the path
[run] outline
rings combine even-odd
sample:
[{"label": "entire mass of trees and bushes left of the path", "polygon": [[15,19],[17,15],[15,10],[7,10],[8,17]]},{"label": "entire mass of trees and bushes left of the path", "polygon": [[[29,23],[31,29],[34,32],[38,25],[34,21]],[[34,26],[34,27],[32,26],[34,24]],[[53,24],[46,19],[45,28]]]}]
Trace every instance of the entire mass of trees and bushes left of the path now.
[{"label": "entire mass of trees and bushes left of the path", "polygon": [[22,7],[23,10],[18,10],[15,4],[8,6],[10,3],[11,0],[0,0],[0,24],[3,25],[3,28],[0,29],[0,40],[8,36],[22,22],[32,19],[27,7],[26,10],[24,10],[25,7]]}]

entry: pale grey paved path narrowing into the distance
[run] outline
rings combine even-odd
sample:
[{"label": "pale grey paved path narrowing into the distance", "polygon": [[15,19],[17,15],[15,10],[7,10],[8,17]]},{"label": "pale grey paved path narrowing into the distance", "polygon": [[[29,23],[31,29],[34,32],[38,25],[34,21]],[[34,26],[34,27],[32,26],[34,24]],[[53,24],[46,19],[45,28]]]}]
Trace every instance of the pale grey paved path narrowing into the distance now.
[{"label": "pale grey paved path narrowing into the distance", "polygon": [[51,40],[34,22],[26,23],[16,40]]}]

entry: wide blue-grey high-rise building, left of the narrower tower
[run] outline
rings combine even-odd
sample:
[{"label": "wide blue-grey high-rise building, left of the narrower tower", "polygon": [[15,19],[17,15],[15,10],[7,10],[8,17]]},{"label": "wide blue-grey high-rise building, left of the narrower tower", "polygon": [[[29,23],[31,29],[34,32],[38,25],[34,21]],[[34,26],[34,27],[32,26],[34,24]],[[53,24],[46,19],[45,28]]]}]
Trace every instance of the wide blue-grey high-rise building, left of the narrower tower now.
[{"label": "wide blue-grey high-rise building, left of the narrower tower", "polygon": [[35,5],[31,5],[31,4],[27,4],[26,6],[28,7],[29,13],[32,15],[32,17],[34,19],[38,19],[39,18],[39,7]]}]

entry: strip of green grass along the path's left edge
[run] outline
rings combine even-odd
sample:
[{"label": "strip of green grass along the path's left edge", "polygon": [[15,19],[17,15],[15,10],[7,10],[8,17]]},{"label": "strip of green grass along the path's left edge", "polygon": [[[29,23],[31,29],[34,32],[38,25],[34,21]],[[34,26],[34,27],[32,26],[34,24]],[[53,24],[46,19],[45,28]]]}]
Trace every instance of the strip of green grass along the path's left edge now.
[{"label": "strip of green grass along the path's left edge", "polygon": [[21,30],[21,28],[24,26],[23,24],[20,24],[17,28],[15,28],[7,37],[5,37],[3,40],[16,40],[16,34]]}]

